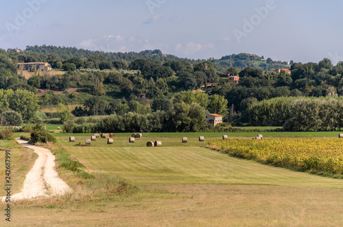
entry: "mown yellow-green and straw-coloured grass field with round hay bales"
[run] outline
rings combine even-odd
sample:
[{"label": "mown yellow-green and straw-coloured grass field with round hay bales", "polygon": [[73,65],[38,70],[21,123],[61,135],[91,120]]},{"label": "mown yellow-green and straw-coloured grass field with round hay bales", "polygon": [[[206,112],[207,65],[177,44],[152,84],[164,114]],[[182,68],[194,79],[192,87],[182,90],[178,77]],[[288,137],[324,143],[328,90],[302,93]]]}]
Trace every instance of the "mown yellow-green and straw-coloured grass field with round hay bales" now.
[{"label": "mown yellow-green and straw-coloured grass field with round hay bales", "polygon": [[[205,147],[222,134],[143,134],[135,143],[128,143],[130,134],[116,134],[113,145],[97,139],[84,146],[91,134],[75,134],[75,143],[69,143],[69,134],[56,133],[58,145],[88,173],[119,176],[136,189],[108,201],[63,198],[67,202],[14,204],[12,225],[342,226],[343,180],[232,158]],[[200,135],[204,142],[198,141]],[[181,142],[182,136],[188,143]],[[162,147],[145,146],[155,140]],[[68,176],[62,177],[68,182]]]}]

